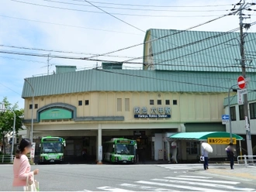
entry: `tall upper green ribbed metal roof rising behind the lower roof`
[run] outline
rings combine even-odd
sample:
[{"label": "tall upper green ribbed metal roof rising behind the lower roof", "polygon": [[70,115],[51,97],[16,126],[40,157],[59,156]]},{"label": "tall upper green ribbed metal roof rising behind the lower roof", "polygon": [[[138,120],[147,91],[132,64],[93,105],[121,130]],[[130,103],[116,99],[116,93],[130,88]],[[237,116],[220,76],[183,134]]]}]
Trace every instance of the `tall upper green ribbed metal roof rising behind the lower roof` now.
[{"label": "tall upper green ribbed metal roof rising behind the lower roof", "polygon": [[[237,39],[240,33],[183,31],[174,29],[149,29],[147,36],[157,39],[152,42],[152,53],[155,70],[189,70],[189,71],[226,71],[239,72],[240,46]],[[171,35],[178,33],[175,35]],[[223,34],[223,35],[222,35]],[[211,38],[215,36],[215,38]],[[208,39],[207,39],[208,38]],[[205,39],[205,40],[203,40]],[[144,40],[144,41],[145,41]],[[199,41],[198,43],[195,43]],[[256,33],[248,33],[245,37],[246,54],[256,52]],[[190,44],[189,44],[190,43]],[[189,46],[185,46],[189,44]],[[181,49],[177,47],[181,46]],[[145,46],[144,46],[145,47]],[[168,50],[168,51],[165,51]],[[165,51],[164,53],[161,53]],[[161,54],[157,54],[161,53]],[[247,59],[250,55],[247,55]],[[144,48],[145,63],[145,48]],[[256,65],[252,60],[251,66]],[[254,71],[254,69],[247,69]]]}]

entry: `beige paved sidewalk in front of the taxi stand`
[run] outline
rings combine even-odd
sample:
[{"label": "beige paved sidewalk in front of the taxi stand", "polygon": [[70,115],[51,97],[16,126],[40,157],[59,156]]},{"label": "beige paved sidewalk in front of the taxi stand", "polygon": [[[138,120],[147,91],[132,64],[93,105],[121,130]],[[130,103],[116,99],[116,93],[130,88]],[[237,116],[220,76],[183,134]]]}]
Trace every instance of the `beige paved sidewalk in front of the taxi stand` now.
[{"label": "beige paved sidewalk in front of the taxi stand", "polygon": [[223,167],[209,166],[207,173],[212,173],[220,176],[236,177],[237,179],[254,180],[256,182],[256,166],[234,165],[234,170],[230,169],[228,163],[224,163]]}]

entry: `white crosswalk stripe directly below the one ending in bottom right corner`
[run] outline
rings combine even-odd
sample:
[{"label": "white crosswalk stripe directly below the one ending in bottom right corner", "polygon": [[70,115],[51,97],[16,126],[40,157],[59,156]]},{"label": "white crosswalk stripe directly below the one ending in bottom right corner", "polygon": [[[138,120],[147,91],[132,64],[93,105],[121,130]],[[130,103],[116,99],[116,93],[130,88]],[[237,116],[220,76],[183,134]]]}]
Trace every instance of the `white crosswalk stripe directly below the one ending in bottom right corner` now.
[{"label": "white crosswalk stripe directly below the one ending in bottom right corner", "polygon": [[213,190],[213,189],[203,188],[203,187],[183,186],[183,185],[175,185],[175,184],[168,184],[168,183],[156,183],[156,182],[150,182],[150,181],[144,181],[144,180],[136,181],[136,183],[163,186],[163,187],[175,187],[175,188],[180,188],[180,189],[185,189],[185,190],[216,191],[216,192],[222,191],[223,192],[223,190]]}]

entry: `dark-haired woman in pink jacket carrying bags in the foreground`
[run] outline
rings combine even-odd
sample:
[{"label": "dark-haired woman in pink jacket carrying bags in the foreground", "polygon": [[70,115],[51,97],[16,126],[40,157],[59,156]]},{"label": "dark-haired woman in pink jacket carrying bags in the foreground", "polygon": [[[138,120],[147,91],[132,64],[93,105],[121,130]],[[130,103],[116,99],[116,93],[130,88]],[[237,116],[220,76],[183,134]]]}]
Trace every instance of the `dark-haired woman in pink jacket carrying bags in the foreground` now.
[{"label": "dark-haired woman in pink jacket carrying bags in the foreground", "polygon": [[14,191],[24,191],[27,178],[29,183],[33,183],[33,175],[39,173],[39,170],[31,172],[31,166],[26,154],[30,153],[32,144],[29,139],[22,139],[19,143],[19,149],[16,151],[16,157],[13,161],[13,182],[12,188]]}]

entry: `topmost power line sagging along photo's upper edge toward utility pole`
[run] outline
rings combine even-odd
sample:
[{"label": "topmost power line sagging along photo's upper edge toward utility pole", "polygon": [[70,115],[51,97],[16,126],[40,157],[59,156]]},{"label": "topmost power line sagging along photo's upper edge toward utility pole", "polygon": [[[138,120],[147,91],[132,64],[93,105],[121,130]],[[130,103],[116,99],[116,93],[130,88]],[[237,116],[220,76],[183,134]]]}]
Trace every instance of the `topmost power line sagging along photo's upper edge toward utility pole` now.
[{"label": "topmost power line sagging along photo's upper edge toward utility pole", "polygon": [[[73,0],[74,1],[74,0]],[[82,1],[82,0],[81,0]],[[81,2],[80,1],[80,2]],[[187,6],[170,6],[170,5],[138,5],[138,4],[120,4],[120,3],[112,3],[112,2],[92,2],[96,4],[106,4],[106,5],[122,5],[122,6],[137,6],[137,7],[219,7],[219,6],[230,6],[229,5],[187,5]]]}]

